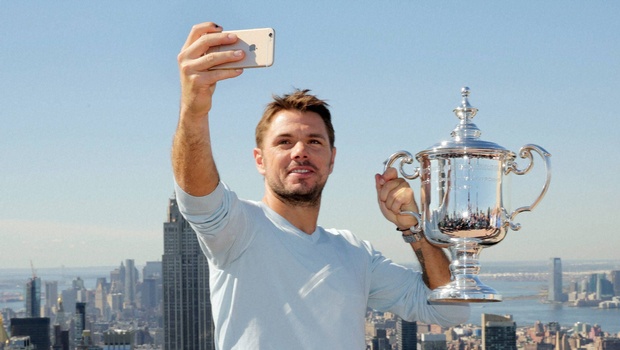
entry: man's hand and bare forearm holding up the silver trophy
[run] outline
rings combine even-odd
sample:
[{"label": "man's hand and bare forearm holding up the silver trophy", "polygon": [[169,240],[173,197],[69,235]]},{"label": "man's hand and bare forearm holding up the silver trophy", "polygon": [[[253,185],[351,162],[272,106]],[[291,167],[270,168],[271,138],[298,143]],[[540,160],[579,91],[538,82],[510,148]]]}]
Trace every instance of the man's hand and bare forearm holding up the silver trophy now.
[{"label": "man's hand and bare forearm holding up the silver trophy", "polygon": [[[375,183],[379,208],[386,219],[394,223],[399,230],[414,226],[415,218],[400,215],[401,211],[418,212],[409,183],[399,178],[394,168],[388,168],[385,173],[375,175]],[[424,283],[429,288],[434,289],[450,282],[450,260],[441,248],[430,244],[426,238],[411,243],[411,248],[422,267]]]}]

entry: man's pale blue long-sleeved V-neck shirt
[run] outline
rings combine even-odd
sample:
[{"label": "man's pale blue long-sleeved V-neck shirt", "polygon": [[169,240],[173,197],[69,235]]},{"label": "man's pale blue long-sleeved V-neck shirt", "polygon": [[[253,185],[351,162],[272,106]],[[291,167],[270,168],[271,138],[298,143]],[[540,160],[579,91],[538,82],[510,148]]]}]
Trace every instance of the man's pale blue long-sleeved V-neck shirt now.
[{"label": "man's pale blue long-sleeved V-neck shirt", "polygon": [[209,260],[219,349],[365,349],[367,307],[444,326],[469,317],[467,305],[429,305],[419,272],[349,231],[308,235],[221,183],[176,196]]}]

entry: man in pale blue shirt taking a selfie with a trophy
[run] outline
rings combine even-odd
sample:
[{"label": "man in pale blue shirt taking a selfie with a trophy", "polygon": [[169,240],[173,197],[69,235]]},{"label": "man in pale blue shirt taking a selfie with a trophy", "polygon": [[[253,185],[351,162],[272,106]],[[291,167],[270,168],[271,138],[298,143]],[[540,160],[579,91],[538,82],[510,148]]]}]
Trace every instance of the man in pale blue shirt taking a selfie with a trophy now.
[{"label": "man in pale blue shirt taking a selfie with a trophy", "polygon": [[[466,305],[429,305],[450,280],[449,262],[425,239],[411,243],[423,274],[392,263],[345,230],[317,225],[336,157],[331,115],[308,90],[275,97],[256,128],[254,159],[265,178],[260,202],[220,182],[211,151],[215,84],[241,70],[209,70],[243,58],[204,54],[236,41],[214,23],[194,26],[178,56],[181,107],[172,158],[177,201],[209,259],[220,349],[363,349],[366,308],[408,320],[465,322]],[[411,237],[413,192],[395,169],[375,176],[381,212]],[[422,278],[424,276],[424,281]],[[425,284],[426,283],[426,284]]]}]

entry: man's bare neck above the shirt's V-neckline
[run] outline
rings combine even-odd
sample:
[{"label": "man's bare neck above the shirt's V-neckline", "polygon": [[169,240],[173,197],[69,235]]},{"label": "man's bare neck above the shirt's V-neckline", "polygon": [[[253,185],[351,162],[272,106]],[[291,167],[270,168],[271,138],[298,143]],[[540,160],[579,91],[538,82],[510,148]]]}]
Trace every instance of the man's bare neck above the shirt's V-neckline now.
[{"label": "man's bare neck above the shirt's V-neckline", "polygon": [[267,192],[263,197],[263,202],[301,231],[310,235],[316,230],[319,208],[321,206],[320,200],[316,204],[309,206],[293,205]]}]

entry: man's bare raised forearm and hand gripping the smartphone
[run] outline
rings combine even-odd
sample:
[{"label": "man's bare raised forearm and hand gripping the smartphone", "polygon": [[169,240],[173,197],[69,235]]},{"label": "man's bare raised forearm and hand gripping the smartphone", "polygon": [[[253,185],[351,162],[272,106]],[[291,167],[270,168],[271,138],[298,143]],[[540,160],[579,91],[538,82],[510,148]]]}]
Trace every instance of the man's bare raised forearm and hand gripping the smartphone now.
[{"label": "man's bare raised forearm and hand gripping the smartphone", "polygon": [[179,186],[193,196],[215,189],[219,175],[213,159],[209,111],[218,81],[239,76],[243,70],[209,70],[218,64],[238,61],[243,51],[205,54],[212,46],[232,44],[234,34],[207,22],[195,25],[177,57],[181,80],[179,124],[172,144],[172,169]]}]

